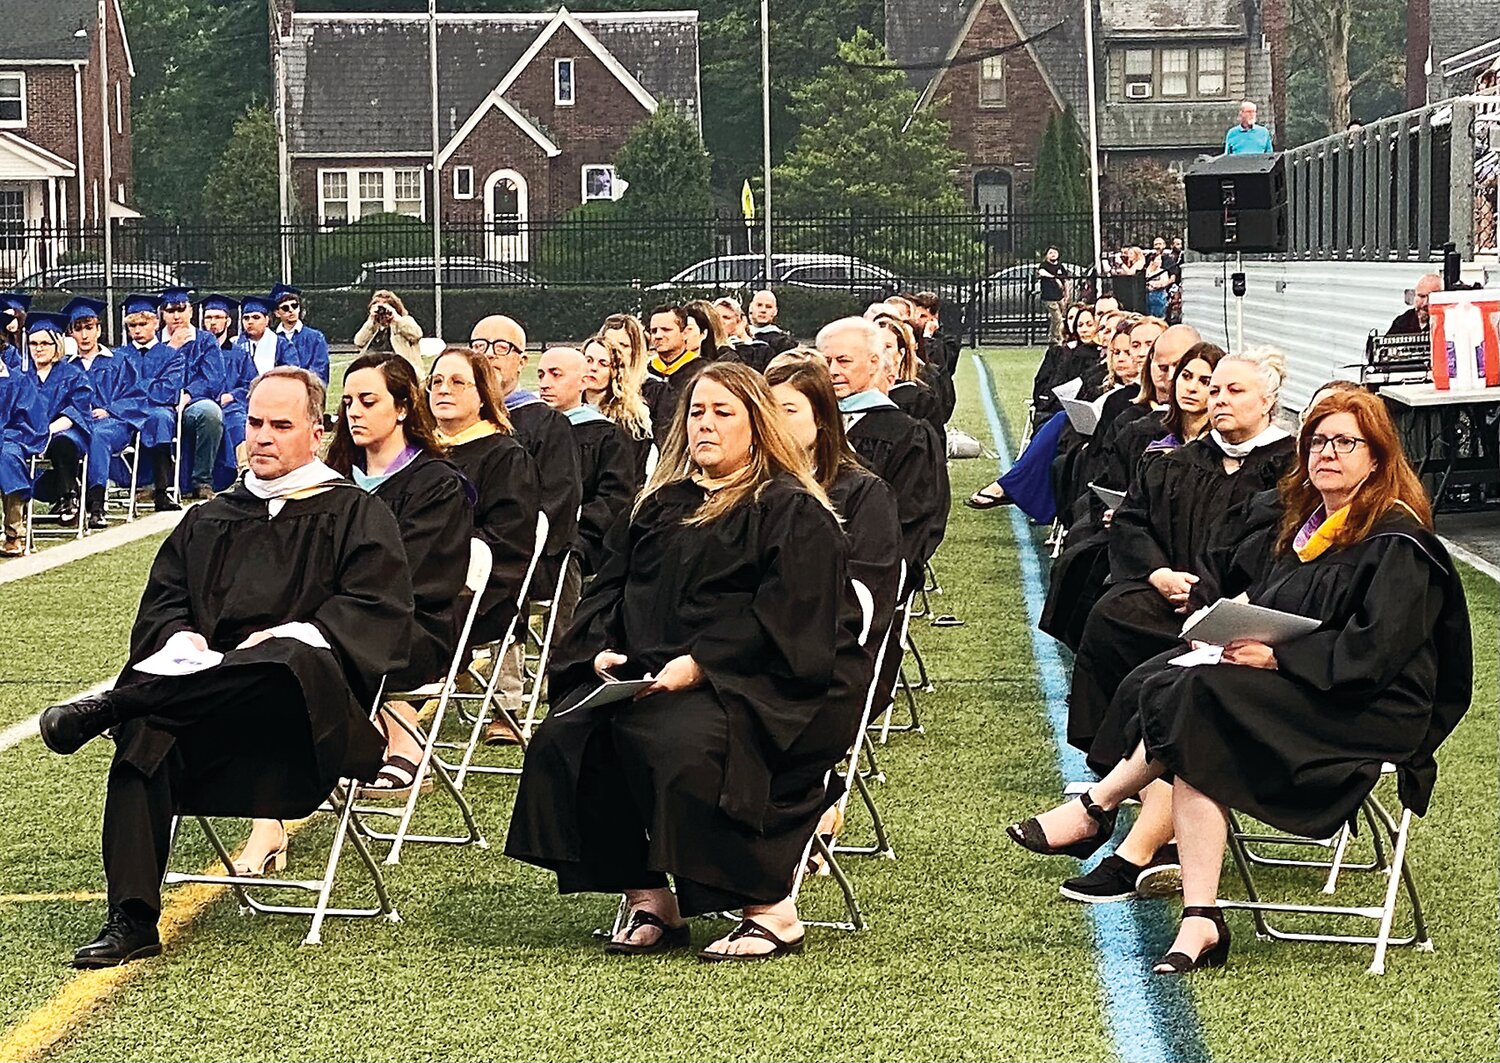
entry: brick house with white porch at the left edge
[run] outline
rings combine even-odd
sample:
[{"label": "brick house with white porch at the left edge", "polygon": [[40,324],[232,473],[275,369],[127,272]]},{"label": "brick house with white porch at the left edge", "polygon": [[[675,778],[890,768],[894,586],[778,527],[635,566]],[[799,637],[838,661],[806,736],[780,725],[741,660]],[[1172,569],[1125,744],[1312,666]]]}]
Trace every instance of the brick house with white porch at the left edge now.
[{"label": "brick house with white porch at the left edge", "polygon": [[[134,217],[130,45],[118,0],[0,0],[0,247],[4,267],[57,247],[12,234],[27,226],[98,226]],[[100,40],[104,84],[100,84]],[[105,148],[110,177],[105,180]],[[24,247],[28,246],[28,247]],[[26,261],[21,261],[21,259]]]}]

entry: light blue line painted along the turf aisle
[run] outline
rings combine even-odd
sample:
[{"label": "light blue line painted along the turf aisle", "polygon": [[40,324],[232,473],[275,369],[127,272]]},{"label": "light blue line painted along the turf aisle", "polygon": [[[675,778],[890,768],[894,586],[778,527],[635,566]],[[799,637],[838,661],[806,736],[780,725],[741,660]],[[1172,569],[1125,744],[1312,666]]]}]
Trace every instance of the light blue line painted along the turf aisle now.
[{"label": "light blue line painted along the turf aisle", "polygon": [[[990,423],[994,453],[999,456],[1000,472],[1005,472],[1011,466],[1011,451],[994,405],[990,372],[978,354],[974,355],[974,366],[980,375],[980,400]],[[1068,667],[1058,643],[1042,634],[1040,627],[1047,583],[1042,579],[1036,538],[1018,507],[1005,508],[1016,537],[1032,657],[1047,703],[1058,771],[1065,781],[1092,778],[1083,754],[1066,742]],[[1059,870],[1065,867],[1059,862]],[[1150,973],[1150,961],[1166,952],[1166,943],[1172,940],[1172,928],[1166,925],[1161,907],[1160,903],[1088,906],[1098,943],[1098,975],[1106,994],[1110,1035],[1116,1056],[1125,1063],[1200,1063],[1210,1057],[1198,1029],[1191,991],[1184,979]]]}]

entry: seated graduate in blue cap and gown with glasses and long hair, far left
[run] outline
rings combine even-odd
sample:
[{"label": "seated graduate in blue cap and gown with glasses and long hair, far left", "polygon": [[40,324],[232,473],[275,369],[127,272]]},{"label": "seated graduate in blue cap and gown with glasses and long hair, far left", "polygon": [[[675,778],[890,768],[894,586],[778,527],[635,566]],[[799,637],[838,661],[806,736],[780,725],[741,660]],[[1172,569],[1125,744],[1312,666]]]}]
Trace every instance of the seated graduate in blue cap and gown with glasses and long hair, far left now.
[{"label": "seated graduate in blue cap and gown with glasses and long hair, far left", "polygon": [[93,420],[93,388],[88,373],[63,361],[68,318],[33,313],[26,321],[32,364],[26,370],[40,397],[40,420],[46,423],[46,460],[51,469],[32,483],[36,498],[52,502],[52,516],[63,523],[78,517],[80,480],[88,453],[88,423]]}]

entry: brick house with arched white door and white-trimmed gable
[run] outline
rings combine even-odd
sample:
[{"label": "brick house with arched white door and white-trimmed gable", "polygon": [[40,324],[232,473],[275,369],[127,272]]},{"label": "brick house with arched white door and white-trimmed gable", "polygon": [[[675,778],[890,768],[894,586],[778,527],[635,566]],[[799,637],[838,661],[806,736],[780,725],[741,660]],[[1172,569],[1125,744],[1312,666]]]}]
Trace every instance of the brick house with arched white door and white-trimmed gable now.
[{"label": "brick house with arched white door and white-trimmed gable", "polygon": [[[296,210],[321,225],[426,219],[426,15],[296,12],[276,0]],[[486,255],[526,261],[526,220],[618,195],[614,159],[658,106],[700,124],[698,12],[438,16],[438,202],[483,223]]]}]

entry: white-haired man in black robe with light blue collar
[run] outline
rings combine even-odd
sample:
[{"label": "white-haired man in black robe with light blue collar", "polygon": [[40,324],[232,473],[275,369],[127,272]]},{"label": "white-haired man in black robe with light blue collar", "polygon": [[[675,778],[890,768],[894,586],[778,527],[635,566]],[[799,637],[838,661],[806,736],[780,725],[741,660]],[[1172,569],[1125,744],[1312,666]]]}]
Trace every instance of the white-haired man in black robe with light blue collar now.
[{"label": "white-haired man in black robe with light blue collar", "polygon": [[897,408],[886,391],[896,366],[880,330],[864,318],[840,318],[818,333],[818,349],[838,396],[849,445],[896,492],[908,589],[922,579],[948,528],[948,460],[938,432]]}]

